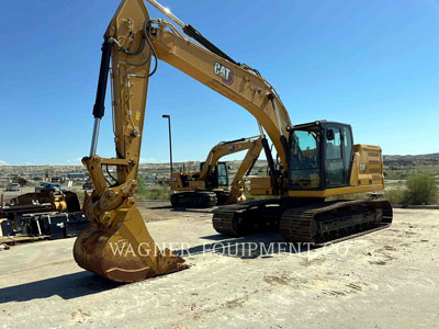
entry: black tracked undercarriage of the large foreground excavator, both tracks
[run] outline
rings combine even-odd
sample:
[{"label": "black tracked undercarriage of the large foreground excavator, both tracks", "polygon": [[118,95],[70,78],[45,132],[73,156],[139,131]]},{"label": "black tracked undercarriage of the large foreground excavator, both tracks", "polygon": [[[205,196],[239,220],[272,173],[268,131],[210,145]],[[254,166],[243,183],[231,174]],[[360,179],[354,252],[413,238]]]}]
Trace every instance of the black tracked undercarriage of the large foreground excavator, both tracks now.
[{"label": "black tracked undercarriage of the large foreground excavator, both tracks", "polygon": [[286,242],[320,245],[385,228],[392,217],[386,200],[284,197],[221,206],[214,211],[212,223],[216,231],[227,236],[280,229]]}]

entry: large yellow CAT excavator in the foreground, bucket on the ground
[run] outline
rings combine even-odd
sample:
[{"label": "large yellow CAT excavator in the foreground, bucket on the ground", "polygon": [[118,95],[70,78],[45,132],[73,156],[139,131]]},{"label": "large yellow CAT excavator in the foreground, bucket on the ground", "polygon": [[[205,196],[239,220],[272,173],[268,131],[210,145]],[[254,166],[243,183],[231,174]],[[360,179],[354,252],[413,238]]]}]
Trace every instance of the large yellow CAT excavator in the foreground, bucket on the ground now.
[{"label": "large yellow CAT excavator in the foreground, bucket on the ground", "polygon": [[[177,26],[150,19],[143,0],[123,0],[104,34],[91,149],[82,159],[94,190],[86,193],[83,203],[91,224],[74,248],[80,266],[116,282],[187,268],[176,253],[158,248],[133,196],[148,81],[159,59],[246,109],[259,124],[270,175],[254,178],[250,193],[275,197],[219,206],[213,215],[218,232],[243,236],[279,228],[285,241],[318,245],[391,224],[386,200],[326,200],[384,188],[379,146],[354,145],[348,124],[293,125],[279,94],[257,69],[235,61],[157,1],[148,2]],[[109,72],[116,148],[112,159],[95,155]],[[108,167],[116,168],[112,181],[104,175]]]}]

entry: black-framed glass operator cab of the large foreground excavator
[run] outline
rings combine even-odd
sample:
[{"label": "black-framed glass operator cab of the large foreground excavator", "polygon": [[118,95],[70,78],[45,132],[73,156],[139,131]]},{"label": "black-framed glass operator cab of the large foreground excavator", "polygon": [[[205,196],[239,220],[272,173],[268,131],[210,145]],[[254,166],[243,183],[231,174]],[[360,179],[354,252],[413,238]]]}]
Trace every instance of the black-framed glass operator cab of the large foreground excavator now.
[{"label": "black-framed glass operator cab of the large foreground excavator", "polygon": [[290,190],[349,186],[352,145],[348,124],[316,121],[293,126],[289,140]]}]

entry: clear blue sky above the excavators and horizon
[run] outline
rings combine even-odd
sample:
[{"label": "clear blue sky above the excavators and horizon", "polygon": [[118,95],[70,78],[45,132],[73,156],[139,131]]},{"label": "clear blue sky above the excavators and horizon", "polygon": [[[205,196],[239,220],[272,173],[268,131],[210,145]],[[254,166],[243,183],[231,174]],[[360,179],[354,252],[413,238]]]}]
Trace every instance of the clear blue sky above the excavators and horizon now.
[{"label": "clear blue sky above the excavators and horizon", "polygon": [[[350,123],[356,143],[380,145],[387,155],[439,151],[439,1],[161,3],[259,69],[293,124]],[[0,164],[79,164],[88,155],[100,45],[117,4],[2,4]],[[144,161],[168,160],[164,113],[172,118],[177,161],[201,160],[218,141],[258,134],[244,109],[165,63],[150,79],[146,111]],[[104,157],[114,156],[110,113],[98,146]]]}]

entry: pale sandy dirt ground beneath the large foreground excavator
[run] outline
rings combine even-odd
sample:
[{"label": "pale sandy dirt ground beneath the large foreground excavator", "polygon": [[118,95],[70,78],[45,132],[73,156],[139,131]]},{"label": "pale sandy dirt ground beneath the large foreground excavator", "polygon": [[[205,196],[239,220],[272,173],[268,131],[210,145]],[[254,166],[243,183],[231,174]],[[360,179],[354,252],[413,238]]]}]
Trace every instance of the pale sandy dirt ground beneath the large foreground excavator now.
[{"label": "pale sandy dirt ground beneath the large foreground excavator", "polygon": [[15,246],[0,251],[0,327],[439,328],[439,211],[299,252],[277,232],[218,235],[210,208],[139,207],[189,270],[119,285],[76,264],[74,239]]}]

